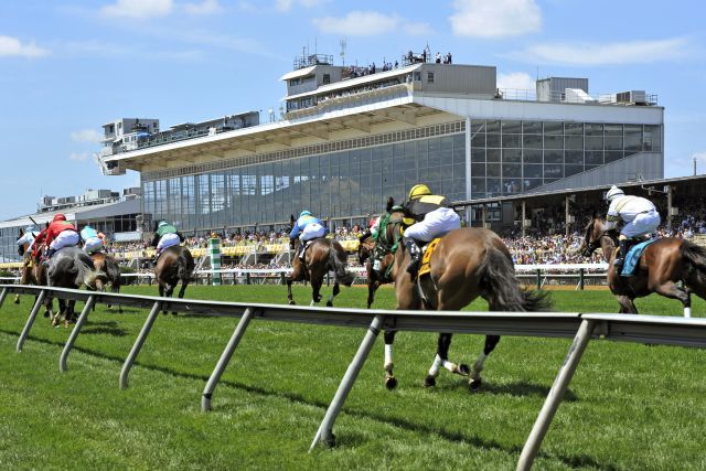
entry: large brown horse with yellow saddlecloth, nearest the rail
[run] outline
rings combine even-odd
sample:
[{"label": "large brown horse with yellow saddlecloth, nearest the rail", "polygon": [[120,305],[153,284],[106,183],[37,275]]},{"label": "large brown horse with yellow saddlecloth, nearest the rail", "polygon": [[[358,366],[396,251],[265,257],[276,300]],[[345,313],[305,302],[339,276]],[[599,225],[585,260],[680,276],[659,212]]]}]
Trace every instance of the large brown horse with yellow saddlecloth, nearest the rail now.
[{"label": "large brown horse with yellow saddlecloth, nearest the rail", "polygon": [[[404,227],[404,212],[393,208],[388,201],[389,217],[385,227],[387,240],[397,240]],[[379,237],[378,237],[379,238]],[[389,277],[395,281],[397,309],[404,310],[445,310],[458,311],[479,296],[488,301],[490,311],[532,312],[547,311],[550,302],[545,293],[523,290],[515,276],[512,257],[502,239],[492,231],[477,227],[453,229],[445,235],[430,257],[430,272],[413,280],[407,272],[409,254],[404,244],[394,244]],[[385,254],[387,255],[387,254]],[[387,270],[388,257],[381,263],[381,270]],[[385,386],[393,389],[397,379],[393,373],[392,349],[395,331],[385,331]],[[481,371],[490,353],[500,341],[500,335],[486,335],[485,346],[472,370],[464,364],[448,360],[451,333],[440,333],[437,356],[429,374],[424,381],[425,387],[436,385],[439,366],[452,373],[469,375],[469,389],[481,386]]]}]

